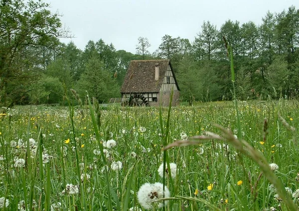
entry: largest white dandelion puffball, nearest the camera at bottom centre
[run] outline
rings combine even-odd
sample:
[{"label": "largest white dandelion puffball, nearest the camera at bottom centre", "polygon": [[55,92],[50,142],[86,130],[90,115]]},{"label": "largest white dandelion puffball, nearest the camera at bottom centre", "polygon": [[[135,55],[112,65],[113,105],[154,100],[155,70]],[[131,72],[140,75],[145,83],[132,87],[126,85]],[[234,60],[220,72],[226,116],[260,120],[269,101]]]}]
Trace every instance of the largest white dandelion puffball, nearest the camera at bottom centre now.
[{"label": "largest white dandelion puffball, nearest the camera at bottom centre", "polygon": [[139,204],[146,210],[152,210],[154,207],[162,208],[163,206],[166,206],[168,201],[158,201],[170,197],[168,188],[166,186],[164,188],[165,190],[163,192],[162,183],[143,184],[137,193]]}]

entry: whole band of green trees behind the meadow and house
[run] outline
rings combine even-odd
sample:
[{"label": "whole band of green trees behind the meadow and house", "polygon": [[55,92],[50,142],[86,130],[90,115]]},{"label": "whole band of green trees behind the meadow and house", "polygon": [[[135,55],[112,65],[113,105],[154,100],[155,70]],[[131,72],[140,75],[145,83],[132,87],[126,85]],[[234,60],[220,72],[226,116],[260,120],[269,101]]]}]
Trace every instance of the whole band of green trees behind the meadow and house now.
[{"label": "whole band of green trees behind the meadow and house", "polygon": [[165,35],[157,50],[139,37],[136,53],[115,49],[103,39],[84,50],[60,37],[58,13],[41,1],[0,0],[0,104],[65,103],[65,92],[86,91],[100,102],[120,97],[129,62],[170,59],[182,101],[231,99],[225,37],[233,47],[237,97],[296,98],[299,89],[299,9],[268,11],[262,24],[227,20],[219,29],[204,21],[195,40]]}]

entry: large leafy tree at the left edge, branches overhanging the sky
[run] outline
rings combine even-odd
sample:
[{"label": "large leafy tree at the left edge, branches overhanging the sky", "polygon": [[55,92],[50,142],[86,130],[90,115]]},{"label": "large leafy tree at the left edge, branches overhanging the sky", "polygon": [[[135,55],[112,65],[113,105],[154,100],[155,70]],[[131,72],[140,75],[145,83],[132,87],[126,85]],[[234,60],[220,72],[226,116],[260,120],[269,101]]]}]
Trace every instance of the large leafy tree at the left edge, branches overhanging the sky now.
[{"label": "large leafy tree at the left edge, branches overhanging the sky", "polygon": [[[52,14],[48,6],[35,0],[0,0],[0,104],[6,107],[18,100],[12,95],[12,84],[17,81],[27,87],[31,82],[33,71],[38,69],[33,67],[35,55],[42,54],[40,46],[48,47],[52,36],[68,36],[59,15]],[[40,52],[32,53],[33,48]]]}]

